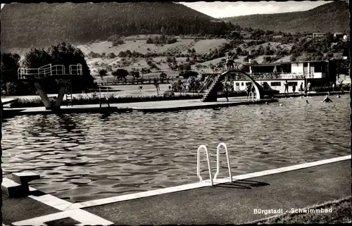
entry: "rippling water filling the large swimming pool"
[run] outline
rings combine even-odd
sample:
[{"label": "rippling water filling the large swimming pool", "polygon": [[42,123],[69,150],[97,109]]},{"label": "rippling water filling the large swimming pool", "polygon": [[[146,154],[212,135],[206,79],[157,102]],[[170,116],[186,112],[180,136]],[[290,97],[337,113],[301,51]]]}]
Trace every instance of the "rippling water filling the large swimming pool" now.
[{"label": "rippling water filling the large swimming pool", "polygon": [[[225,142],[233,175],[350,154],[348,96],[260,106],[111,115],[32,115],[3,125],[3,170],[42,176],[33,187],[70,201],[198,181],[196,150],[215,170]],[[225,152],[222,150],[222,152]],[[201,156],[205,161],[204,156]],[[227,177],[225,155],[220,177]],[[203,176],[207,175],[202,164]],[[215,172],[215,171],[214,171]]]}]

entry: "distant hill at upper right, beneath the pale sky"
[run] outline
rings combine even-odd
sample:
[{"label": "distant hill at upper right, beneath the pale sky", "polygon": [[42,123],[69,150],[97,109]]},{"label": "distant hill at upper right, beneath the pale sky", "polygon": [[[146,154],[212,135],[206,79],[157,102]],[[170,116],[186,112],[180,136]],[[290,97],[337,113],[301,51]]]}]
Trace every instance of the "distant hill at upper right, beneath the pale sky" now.
[{"label": "distant hill at upper right, beneath the pale sky", "polygon": [[348,32],[349,9],[343,1],[334,1],[309,11],[244,15],[229,20],[241,27],[281,32]]}]

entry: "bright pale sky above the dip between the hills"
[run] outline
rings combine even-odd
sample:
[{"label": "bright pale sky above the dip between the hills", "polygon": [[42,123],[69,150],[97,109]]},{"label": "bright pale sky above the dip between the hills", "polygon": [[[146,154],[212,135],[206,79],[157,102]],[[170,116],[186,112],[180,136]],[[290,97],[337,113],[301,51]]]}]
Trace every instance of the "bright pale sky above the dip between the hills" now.
[{"label": "bright pale sky above the dip between the hills", "polygon": [[[311,8],[327,4],[331,1],[258,1],[258,2],[180,2],[189,8],[205,13],[213,18],[224,18],[237,15],[287,13],[293,11],[307,11]],[[3,8],[4,4],[1,4]]]}]

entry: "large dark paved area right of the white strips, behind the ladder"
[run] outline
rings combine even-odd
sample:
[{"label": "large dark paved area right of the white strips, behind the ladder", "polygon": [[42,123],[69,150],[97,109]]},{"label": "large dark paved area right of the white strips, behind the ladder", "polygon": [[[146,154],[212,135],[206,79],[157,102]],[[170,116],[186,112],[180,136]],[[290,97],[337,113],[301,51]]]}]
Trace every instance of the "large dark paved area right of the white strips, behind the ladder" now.
[{"label": "large dark paved area right of the white strips, behind the ladder", "polygon": [[254,208],[303,208],[351,195],[351,160],[84,208],[116,225],[244,224]]}]

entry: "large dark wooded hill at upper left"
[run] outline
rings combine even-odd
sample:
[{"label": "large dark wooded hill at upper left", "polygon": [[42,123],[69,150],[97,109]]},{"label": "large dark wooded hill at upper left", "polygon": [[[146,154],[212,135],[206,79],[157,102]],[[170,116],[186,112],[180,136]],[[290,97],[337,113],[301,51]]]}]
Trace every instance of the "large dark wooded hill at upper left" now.
[{"label": "large dark wooded hill at upper left", "polygon": [[6,4],[1,49],[84,44],[114,34],[222,34],[230,23],[172,2]]}]

